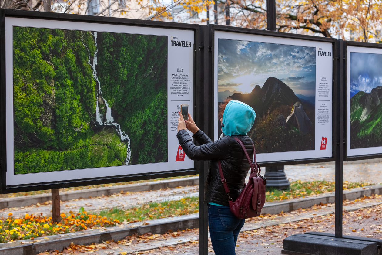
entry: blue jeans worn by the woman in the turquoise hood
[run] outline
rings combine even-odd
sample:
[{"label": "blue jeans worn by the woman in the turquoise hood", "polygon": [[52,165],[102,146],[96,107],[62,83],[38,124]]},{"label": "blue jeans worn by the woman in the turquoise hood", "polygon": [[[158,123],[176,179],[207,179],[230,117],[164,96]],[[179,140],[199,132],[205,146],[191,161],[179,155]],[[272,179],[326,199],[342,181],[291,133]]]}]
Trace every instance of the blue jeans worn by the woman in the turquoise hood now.
[{"label": "blue jeans worn by the woman in the turquoise hood", "polygon": [[235,255],[236,241],[245,219],[236,218],[229,206],[207,205],[208,226],[215,255]]}]

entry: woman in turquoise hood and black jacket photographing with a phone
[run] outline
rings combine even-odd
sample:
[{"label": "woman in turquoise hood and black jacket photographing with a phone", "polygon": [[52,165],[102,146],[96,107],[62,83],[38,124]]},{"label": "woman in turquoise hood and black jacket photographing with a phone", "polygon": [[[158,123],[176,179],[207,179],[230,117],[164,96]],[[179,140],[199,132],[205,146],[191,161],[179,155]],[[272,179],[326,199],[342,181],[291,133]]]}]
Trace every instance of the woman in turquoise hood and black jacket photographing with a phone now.
[{"label": "woman in turquoise hood and black jacket photographing with a phone", "polygon": [[[239,138],[249,156],[253,158],[252,140],[247,136],[251,129],[256,113],[240,101],[227,99],[219,107],[219,119],[222,123],[222,136],[212,142],[199,128],[197,128],[191,115],[188,120],[178,119],[178,134],[176,137],[183,151],[192,160],[209,160],[209,173],[204,188],[204,203],[208,203],[208,225],[212,247],[216,255],[235,255],[235,246],[244,219],[238,219],[230,211],[228,195],[219,174],[218,160],[230,188],[230,197],[233,201],[243,190],[245,178],[248,174],[249,163],[240,144],[234,139]],[[200,144],[194,145],[186,128],[194,135],[193,138]]]}]

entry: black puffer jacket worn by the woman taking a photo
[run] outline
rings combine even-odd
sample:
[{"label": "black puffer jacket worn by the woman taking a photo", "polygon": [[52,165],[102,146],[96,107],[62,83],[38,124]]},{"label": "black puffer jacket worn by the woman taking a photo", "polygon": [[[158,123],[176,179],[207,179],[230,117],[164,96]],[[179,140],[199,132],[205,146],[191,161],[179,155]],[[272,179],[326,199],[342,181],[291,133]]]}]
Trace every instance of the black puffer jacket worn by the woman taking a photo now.
[{"label": "black puffer jacket worn by the woman taking a photo", "polygon": [[188,158],[192,160],[210,160],[209,173],[204,188],[204,203],[229,206],[228,195],[224,191],[219,174],[218,159],[220,159],[224,177],[230,188],[230,197],[235,201],[243,190],[245,177],[250,166],[243,149],[234,137],[243,142],[249,158],[253,159],[251,138],[246,135],[233,135],[224,136],[212,142],[206,134],[199,130],[194,134],[193,138],[201,146],[196,146],[186,130],[180,130],[176,137]]}]

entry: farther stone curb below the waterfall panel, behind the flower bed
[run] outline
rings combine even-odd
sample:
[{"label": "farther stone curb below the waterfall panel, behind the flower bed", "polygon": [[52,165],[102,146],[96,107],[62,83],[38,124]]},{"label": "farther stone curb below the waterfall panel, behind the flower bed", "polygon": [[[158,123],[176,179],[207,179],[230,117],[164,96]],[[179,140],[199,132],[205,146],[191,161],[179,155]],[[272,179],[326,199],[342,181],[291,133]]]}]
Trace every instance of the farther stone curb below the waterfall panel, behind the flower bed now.
[{"label": "farther stone curb below the waterfall panel, behind the flower bed", "polygon": [[[88,188],[60,193],[61,201],[68,201],[78,198],[100,197],[102,195],[112,195],[123,192],[140,192],[149,190],[159,190],[160,188],[176,188],[179,186],[192,186],[199,184],[199,176],[185,177],[169,180],[158,180],[153,182],[141,182],[138,184],[115,185],[113,187]],[[0,210],[4,208],[15,208],[37,203],[45,203],[52,200],[51,194],[29,195],[23,197],[0,198]],[[21,253],[20,253],[21,254]]]}]

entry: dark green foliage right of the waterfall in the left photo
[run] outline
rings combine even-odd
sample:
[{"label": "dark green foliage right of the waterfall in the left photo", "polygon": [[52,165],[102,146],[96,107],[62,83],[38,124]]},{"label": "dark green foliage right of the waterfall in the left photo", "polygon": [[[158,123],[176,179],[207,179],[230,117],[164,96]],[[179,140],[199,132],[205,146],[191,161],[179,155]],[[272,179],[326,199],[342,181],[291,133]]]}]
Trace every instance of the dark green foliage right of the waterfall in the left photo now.
[{"label": "dark green foliage right of the waterfall in the left photo", "polygon": [[134,141],[132,163],[167,161],[167,39],[117,33],[98,38],[102,96]]}]

